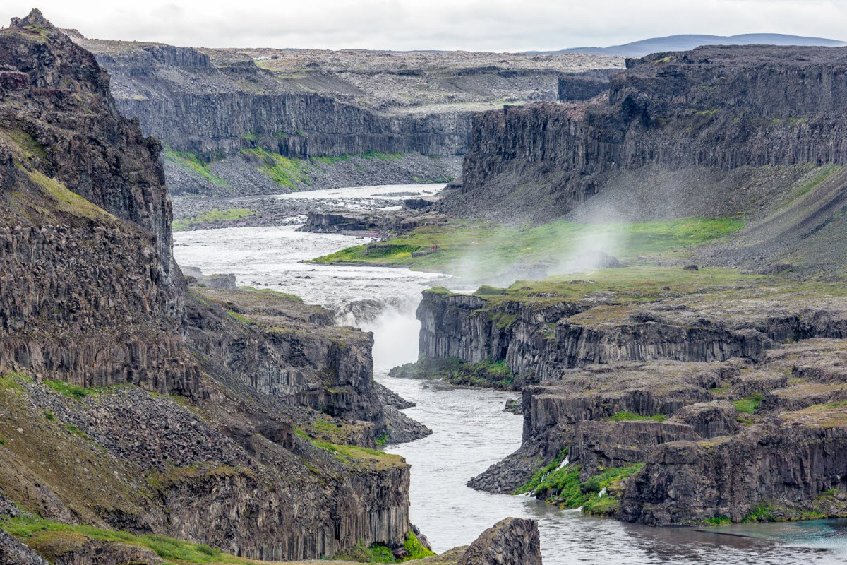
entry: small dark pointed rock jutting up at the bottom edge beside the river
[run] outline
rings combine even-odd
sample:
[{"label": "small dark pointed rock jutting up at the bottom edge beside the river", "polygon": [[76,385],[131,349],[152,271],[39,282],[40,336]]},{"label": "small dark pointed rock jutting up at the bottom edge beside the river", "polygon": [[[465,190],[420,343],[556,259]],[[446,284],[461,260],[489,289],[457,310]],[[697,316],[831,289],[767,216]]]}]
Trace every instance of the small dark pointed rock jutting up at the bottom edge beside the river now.
[{"label": "small dark pointed rock jutting up at the bottom edge beside the river", "polygon": [[541,565],[541,541],[534,520],[506,518],[486,529],[458,565]]}]

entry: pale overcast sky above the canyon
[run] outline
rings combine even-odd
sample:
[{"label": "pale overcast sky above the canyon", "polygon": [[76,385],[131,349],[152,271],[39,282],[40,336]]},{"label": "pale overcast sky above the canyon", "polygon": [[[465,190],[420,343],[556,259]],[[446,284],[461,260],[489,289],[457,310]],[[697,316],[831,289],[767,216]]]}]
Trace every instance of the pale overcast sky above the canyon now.
[{"label": "pale overcast sky above the canyon", "polygon": [[88,37],[192,47],[526,51],[678,33],[847,39],[847,0],[3,0]]}]

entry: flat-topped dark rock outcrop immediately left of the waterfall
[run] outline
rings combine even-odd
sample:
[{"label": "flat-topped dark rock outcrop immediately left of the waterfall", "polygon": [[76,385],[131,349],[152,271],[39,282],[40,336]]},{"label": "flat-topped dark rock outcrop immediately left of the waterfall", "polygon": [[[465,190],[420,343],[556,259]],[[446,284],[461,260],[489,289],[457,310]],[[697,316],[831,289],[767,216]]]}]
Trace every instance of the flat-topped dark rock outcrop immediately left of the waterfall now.
[{"label": "flat-topped dark rock outcrop immediately left of the waterfall", "polygon": [[189,339],[230,374],[283,402],[373,422],[376,436],[387,431],[372,335],[329,325],[329,311],[273,291],[202,290],[199,298],[188,302]]}]

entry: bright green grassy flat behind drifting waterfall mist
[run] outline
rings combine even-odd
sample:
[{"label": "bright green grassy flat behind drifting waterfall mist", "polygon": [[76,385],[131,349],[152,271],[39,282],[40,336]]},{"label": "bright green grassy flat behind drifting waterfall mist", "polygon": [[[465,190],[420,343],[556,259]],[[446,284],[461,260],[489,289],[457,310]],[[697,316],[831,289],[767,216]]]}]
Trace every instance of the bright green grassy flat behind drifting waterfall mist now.
[{"label": "bright green grassy flat behind drifting waterfall mist", "polygon": [[555,267],[597,247],[622,259],[660,253],[679,257],[680,249],[733,234],[743,227],[744,222],[728,218],[638,224],[575,224],[556,220],[538,226],[454,220],[450,224],[418,228],[390,241],[347,247],[313,262],[411,267],[473,279],[473,274],[490,276],[514,265]]}]

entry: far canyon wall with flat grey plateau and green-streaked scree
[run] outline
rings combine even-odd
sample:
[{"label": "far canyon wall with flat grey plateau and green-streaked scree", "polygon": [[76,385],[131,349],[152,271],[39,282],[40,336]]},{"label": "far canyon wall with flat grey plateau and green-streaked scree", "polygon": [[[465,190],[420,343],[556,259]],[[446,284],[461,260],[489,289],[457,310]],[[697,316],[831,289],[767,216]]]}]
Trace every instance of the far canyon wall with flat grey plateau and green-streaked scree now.
[{"label": "far canyon wall with flat grey plateau and green-streaked scree", "polygon": [[592,55],[199,49],[69,36],[112,76],[122,114],[168,146],[174,194],[450,180],[473,115],[556,100],[558,77],[612,69]]}]

